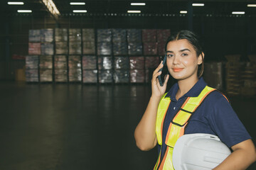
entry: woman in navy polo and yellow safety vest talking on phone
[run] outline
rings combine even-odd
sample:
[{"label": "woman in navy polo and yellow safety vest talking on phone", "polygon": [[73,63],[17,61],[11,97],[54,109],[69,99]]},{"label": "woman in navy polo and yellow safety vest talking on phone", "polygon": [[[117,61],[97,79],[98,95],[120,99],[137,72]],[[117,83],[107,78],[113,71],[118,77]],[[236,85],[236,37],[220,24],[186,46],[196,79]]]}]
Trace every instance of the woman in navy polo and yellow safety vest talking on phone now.
[{"label": "woman in navy polo and yellow safety vest talking on phone", "polygon": [[[149,104],[134,132],[139,149],[146,151],[158,145],[159,158],[154,169],[174,169],[172,149],[177,140],[174,139],[177,132],[178,137],[192,133],[217,135],[230,147],[232,154],[216,166],[216,170],[246,169],[255,162],[255,146],[228,99],[219,91],[206,86],[201,77],[204,53],[198,37],[188,30],[171,35],[166,42],[166,57],[169,73],[178,82],[164,94],[169,75],[166,76],[164,86],[160,86],[157,77],[161,74],[159,69],[163,67],[161,62],[151,80]],[[198,67],[201,67],[200,71]],[[202,97],[199,98],[200,96]],[[185,111],[183,108],[186,108],[190,98],[196,98],[201,103],[191,111]],[[163,104],[166,100],[169,103]],[[167,107],[163,109],[163,106]],[[191,117],[186,118],[181,123],[183,125],[178,125],[180,130],[175,132],[171,127],[177,124],[175,119],[181,112],[191,113]]]}]

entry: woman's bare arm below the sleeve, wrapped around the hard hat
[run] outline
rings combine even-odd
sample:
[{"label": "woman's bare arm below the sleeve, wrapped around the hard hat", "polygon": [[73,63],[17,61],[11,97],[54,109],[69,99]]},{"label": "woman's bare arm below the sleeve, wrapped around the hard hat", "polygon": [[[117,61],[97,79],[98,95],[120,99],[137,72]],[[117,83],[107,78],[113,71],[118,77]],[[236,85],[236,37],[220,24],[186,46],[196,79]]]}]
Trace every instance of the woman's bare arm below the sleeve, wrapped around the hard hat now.
[{"label": "woman's bare arm below the sleeve, wrapped around the hard hat", "polygon": [[256,161],[256,150],[252,140],[245,140],[231,147],[233,152],[214,170],[242,170],[247,169]]}]

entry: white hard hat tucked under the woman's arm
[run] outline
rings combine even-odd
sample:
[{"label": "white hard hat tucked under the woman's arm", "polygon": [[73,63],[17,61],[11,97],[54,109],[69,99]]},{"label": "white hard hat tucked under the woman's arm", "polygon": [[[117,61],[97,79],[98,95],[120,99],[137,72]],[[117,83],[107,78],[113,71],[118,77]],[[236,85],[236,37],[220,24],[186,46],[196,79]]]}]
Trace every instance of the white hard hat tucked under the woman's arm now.
[{"label": "white hard hat tucked under the woman's arm", "polygon": [[178,138],[174,146],[174,169],[213,169],[230,153],[230,149],[215,135],[203,133],[183,135]]}]

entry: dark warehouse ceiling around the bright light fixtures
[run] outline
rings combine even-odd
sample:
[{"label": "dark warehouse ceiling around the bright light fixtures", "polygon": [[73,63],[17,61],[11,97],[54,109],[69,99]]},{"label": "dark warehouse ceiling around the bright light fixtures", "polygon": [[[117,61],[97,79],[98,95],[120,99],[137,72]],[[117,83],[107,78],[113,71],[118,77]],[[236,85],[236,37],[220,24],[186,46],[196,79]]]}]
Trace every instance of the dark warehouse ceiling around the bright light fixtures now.
[{"label": "dark warehouse ceiling around the bright light fixtures", "polygon": [[[11,0],[10,0],[11,1]],[[14,1],[14,0],[13,0]],[[22,1],[22,0],[21,0]],[[188,10],[188,1],[171,1],[171,0],[146,0],[146,1],[123,1],[123,0],[91,0],[83,1],[85,6],[70,6],[70,2],[75,0],[54,0],[55,5],[60,11],[60,16],[80,15],[73,14],[74,9],[86,9],[87,16],[97,15],[127,15],[127,10],[141,10],[140,15],[166,15],[179,14],[181,10]],[[78,0],[82,1],[82,0]],[[33,16],[49,15],[46,7],[41,0],[23,0],[24,5],[8,5],[8,1],[1,0],[0,9],[1,16],[22,15],[18,14],[18,9],[31,9]],[[146,6],[131,6],[131,2],[146,2]],[[195,3],[204,3],[203,7],[193,7],[193,13],[198,15],[230,15],[232,11],[245,11],[247,16],[255,16],[256,8],[247,7],[247,4],[256,4],[256,0],[224,0],[224,1],[193,1]]]}]

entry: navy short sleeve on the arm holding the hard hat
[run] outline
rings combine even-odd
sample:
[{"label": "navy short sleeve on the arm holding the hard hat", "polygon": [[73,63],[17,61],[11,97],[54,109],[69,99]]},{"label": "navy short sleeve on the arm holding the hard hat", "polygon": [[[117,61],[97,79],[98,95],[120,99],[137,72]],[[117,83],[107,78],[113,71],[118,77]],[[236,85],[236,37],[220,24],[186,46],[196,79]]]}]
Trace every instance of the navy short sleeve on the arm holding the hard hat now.
[{"label": "navy short sleeve on the arm holding the hard hat", "polygon": [[220,93],[214,93],[213,95],[215,102],[213,102],[211,114],[208,115],[208,123],[220,140],[228,147],[232,147],[250,139],[249,133],[230,106],[227,98]]}]

